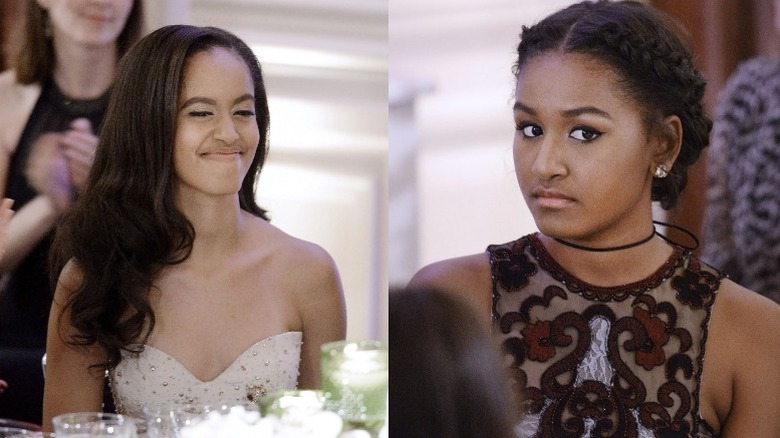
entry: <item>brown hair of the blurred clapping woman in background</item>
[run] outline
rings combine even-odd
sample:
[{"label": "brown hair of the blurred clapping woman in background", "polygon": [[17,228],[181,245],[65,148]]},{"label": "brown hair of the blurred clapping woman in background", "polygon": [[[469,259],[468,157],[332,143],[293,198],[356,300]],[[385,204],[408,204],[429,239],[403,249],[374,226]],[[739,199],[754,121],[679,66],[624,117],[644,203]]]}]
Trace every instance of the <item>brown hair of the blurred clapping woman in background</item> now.
[{"label": "brown hair of the blurred clapping woman in background", "polygon": [[[138,41],[144,29],[144,8],[142,0],[134,0],[127,22],[117,37],[117,59]],[[28,1],[20,47],[16,53],[14,69],[16,80],[21,84],[43,83],[54,71],[54,46],[46,35],[49,13],[37,1]]]}]

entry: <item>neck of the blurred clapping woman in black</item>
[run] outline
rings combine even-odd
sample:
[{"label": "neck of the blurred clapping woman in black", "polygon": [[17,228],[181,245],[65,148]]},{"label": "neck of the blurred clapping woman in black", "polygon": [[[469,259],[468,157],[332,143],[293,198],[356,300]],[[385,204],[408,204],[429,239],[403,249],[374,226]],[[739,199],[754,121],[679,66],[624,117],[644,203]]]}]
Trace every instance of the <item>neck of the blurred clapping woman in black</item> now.
[{"label": "neck of the blurred clapping woman in black", "polygon": [[54,82],[73,99],[95,99],[114,82],[116,46],[86,48],[55,41]]}]

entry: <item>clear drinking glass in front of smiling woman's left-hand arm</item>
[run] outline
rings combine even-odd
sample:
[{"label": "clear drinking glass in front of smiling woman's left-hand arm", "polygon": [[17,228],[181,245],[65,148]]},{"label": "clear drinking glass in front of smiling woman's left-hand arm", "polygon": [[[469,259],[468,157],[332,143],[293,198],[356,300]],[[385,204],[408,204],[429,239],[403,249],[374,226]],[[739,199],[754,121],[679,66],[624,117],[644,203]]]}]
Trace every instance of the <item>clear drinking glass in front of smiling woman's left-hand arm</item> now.
[{"label": "clear drinking glass in front of smiling woman's left-hand arm", "polygon": [[136,418],[103,412],[77,412],[52,419],[57,438],[139,438],[145,424]]}]

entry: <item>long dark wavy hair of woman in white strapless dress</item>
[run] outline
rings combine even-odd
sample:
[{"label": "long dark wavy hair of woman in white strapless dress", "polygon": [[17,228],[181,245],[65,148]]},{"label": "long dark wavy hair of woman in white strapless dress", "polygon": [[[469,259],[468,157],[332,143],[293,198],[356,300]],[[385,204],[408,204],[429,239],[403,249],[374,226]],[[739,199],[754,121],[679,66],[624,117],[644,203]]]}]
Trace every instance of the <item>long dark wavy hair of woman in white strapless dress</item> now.
[{"label": "long dark wavy hair of woman in white strapless dress", "polygon": [[123,348],[146,341],[155,322],[148,298],[154,279],[192,250],[194,229],[174,205],[176,113],[189,60],[218,47],[240,56],[252,76],[260,141],[238,196],[242,210],[268,220],[255,201],[270,119],[254,53],[213,27],[172,25],[147,35],[120,62],[86,188],[52,250],[54,282],[70,260],[83,273],[66,303],[78,330],[67,341],[103,347],[108,362],[100,366],[115,366]]}]

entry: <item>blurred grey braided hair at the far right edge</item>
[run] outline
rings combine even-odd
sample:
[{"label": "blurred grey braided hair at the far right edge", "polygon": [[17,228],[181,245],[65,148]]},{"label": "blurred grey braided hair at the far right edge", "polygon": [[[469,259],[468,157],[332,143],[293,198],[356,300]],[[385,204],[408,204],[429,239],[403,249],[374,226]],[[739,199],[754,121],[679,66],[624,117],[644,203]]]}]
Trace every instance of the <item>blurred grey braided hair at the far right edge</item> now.
[{"label": "blurred grey braided hair at the far right edge", "polygon": [[[775,1],[780,36],[780,1]],[[780,303],[780,58],[743,62],[718,98],[702,260]]]}]

